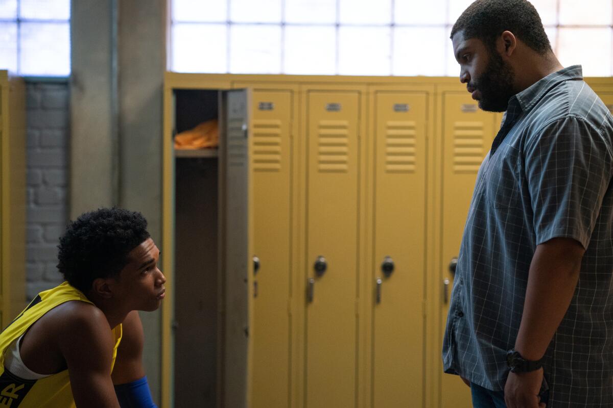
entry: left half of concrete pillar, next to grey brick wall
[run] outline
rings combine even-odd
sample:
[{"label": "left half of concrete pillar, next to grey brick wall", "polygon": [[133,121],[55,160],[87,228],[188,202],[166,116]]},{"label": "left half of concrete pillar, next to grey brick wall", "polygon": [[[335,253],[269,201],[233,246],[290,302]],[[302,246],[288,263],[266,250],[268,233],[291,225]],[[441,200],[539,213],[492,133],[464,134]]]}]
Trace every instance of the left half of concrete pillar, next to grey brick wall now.
[{"label": "left half of concrete pillar, next to grey brick wall", "polygon": [[70,218],[117,204],[115,1],[72,0]]}]

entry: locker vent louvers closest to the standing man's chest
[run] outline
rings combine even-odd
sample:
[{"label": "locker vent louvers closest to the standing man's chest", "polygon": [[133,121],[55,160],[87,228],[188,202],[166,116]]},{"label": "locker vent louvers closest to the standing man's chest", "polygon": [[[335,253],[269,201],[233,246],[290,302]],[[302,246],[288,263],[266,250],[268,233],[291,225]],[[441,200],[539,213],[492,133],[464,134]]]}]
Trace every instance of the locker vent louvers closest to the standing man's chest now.
[{"label": "locker vent louvers closest to the standing man's chest", "polygon": [[482,122],[455,122],[455,173],[476,173],[479,171],[484,155],[483,136]]}]

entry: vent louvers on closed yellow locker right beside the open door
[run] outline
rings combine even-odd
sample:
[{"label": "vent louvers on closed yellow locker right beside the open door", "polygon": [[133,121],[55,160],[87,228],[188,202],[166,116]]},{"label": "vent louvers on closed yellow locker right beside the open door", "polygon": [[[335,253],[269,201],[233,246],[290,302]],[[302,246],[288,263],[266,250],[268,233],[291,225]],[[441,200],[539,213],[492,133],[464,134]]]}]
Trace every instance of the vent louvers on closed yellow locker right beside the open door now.
[{"label": "vent louvers on closed yellow locker right beside the open door", "polygon": [[253,170],[281,171],[281,121],[253,122]]}]

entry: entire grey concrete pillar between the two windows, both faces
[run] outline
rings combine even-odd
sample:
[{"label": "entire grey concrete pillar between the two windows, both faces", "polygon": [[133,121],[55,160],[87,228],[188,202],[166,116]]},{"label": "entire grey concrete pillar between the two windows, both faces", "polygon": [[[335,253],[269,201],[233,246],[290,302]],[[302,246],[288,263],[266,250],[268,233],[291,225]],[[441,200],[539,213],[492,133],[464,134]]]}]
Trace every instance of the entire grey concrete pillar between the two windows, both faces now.
[{"label": "entire grey concrete pillar between the two windows, both faces", "polygon": [[[166,16],[167,0],[72,0],[70,215],[113,205],[137,210],[157,243]],[[159,405],[161,311],[140,316]]]}]

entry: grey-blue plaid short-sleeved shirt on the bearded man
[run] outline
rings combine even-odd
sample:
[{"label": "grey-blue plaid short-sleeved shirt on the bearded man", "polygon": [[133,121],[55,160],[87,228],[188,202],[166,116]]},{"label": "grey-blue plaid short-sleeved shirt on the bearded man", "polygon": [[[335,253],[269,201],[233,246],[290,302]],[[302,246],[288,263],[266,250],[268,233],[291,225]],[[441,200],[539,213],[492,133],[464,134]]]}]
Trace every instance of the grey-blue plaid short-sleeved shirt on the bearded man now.
[{"label": "grey-blue plaid short-sleeved shirt on the bearded man", "polygon": [[550,408],[613,407],[613,117],[580,65],[509,100],[477,176],[443,340],[446,373],[503,390],[536,246],[586,248],[544,357]]}]

